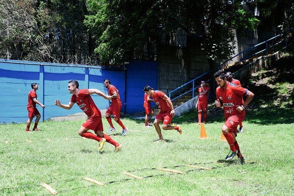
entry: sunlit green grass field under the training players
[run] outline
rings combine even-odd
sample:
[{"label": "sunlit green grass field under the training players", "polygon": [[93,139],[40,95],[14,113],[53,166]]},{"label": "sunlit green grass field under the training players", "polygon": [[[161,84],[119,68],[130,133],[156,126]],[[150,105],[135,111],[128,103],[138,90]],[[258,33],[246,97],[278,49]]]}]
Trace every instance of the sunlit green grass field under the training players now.
[{"label": "sunlit green grass field under the training players", "polygon": [[[40,123],[42,131],[32,133],[25,132],[25,123],[0,125],[0,195],[51,195],[41,186],[43,182],[62,196],[294,195],[293,110],[248,112],[245,131],[237,137],[246,159],[244,165],[236,164],[237,157],[218,163],[229,151],[228,144],[220,141],[222,118],[205,124],[209,138],[204,140],[199,139],[200,126],[195,119],[195,111],[174,118],[174,123],[181,124],[183,135],[163,131],[167,142],[154,143],[158,138],[154,127],[144,127],[143,120],[125,118],[127,136],[121,136],[117,124],[117,131],[110,134],[123,145],[118,153],[108,143],[98,153],[98,142],[78,135],[82,121],[47,121]],[[108,130],[104,118],[103,124]],[[188,164],[212,170],[186,167]]]}]

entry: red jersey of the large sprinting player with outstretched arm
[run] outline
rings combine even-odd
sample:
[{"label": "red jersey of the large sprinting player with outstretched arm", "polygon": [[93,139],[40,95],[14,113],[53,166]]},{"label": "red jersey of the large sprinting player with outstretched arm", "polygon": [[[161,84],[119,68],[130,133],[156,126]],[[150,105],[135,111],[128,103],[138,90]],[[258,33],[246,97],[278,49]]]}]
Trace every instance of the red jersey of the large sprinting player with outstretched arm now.
[{"label": "red jersey of the large sprinting player with outstretched arm", "polygon": [[76,103],[89,118],[101,116],[100,110],[89,94],[89,89],[79,89],[77,96],[72,96],[71,102]]}]

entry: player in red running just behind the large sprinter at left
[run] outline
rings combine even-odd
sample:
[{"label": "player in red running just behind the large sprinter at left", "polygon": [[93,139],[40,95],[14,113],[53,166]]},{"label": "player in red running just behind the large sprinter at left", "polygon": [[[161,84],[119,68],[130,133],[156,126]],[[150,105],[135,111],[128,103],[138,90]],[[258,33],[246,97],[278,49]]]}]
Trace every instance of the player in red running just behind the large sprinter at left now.
[{"label": "player in red running just behind the large sprinter at left", "polygon": [[119,91],[117,90],[117,88],[115,88],[115,86],[111,85],[109,79],[105,79],[103,81],[103,84],[108,89],[108,95],[111,96],[111,104],[105,113],[106,120],[108,121],[108,123],[110,125],[110,129],[108,130],[107,133],[111,133],[116,130],[111,122],[110,115],[113,115],[113,119],[123,128],[122,136],[124,136],[126,134],[126,132],[128,131],[128,128],[123,125],[123,122],[120,119],[121,109],[122,109],[122,101],[120,98]]}]

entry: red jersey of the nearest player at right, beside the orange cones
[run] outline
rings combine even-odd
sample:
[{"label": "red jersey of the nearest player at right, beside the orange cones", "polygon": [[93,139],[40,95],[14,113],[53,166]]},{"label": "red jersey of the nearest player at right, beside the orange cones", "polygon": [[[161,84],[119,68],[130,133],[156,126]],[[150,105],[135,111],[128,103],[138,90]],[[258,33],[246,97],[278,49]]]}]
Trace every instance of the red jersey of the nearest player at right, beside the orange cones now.
[{"label": "red jersey of the nearest player at right, beside the orange cones", "polygon": [[244,103],[242,96],[245,95],[247,91],[248,90],[242,86],[230,82],[227,82],[227,87],[225,89],[220,86],[217,88],[217,99],[222,103],[225,119],[232,115],[245,116],[245,110],[237,112],[236,108]]}]

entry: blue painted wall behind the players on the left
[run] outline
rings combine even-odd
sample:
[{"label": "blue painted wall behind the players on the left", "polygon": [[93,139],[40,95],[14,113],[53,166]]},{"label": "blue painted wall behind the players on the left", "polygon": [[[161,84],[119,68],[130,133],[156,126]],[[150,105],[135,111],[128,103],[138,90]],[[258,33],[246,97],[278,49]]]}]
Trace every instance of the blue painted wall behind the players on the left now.
[{"label": "blue painted wall behind the players on the left", "polygon": [[[69,103],[71,94],[67,90],[68,81],[76,79],[79,88],[97,88],[107,92],[103,80],[109,78],[119,90],[126,114],[143,112],[143,87],[146,84],[157,88],[157,63],[152,61],[131,61],[125,69],[103,68],[68,64],[52,64],[0,59],[0,123],[26,122],[27,96],[30,84],[39,83],[38,100],[46,108],[37,104],[43,120],[56,116],[66,116],[82,112],[77,106],[65,110],[54,105],[55,99]],[[109,101],[93,95],[99,109],[107,109]]]}]

